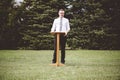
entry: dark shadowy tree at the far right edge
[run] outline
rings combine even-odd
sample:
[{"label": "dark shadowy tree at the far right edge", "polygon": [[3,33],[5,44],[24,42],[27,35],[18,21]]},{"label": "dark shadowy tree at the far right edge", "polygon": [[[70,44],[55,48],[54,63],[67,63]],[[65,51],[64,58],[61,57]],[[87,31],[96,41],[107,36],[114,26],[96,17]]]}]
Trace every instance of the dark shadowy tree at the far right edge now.
[{"label": "dark shadowy tree at the far right edge", "polygon": [[102,0],[102,8],[110,18],[107,22],[107,49],[120,49],[120,0]]}]

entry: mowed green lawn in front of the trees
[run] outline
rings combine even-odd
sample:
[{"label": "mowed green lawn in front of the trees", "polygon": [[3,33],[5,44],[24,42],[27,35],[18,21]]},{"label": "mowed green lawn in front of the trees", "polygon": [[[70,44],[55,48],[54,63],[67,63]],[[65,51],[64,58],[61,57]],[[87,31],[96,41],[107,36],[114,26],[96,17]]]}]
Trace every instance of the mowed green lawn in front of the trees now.
[{"label": "mowed green lawn in front of the trees", "polygon": [[120,80],[120,51],[67,50],[65,66],[51,66],[53,50],[1,50],[0,80]]}]

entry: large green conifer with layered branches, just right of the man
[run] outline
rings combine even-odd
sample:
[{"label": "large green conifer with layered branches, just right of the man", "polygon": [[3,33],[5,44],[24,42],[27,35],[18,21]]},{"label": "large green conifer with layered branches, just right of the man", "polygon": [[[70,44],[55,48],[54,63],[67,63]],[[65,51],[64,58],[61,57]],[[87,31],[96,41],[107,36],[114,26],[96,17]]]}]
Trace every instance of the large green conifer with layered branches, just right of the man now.
[{"label": "large green conifer with layered branches, just right of the man", "polygon": [[68,45],[73,49],[105,49],[105,29],[109,18],[102,4],[96,0],[73,0],[71,5],[72,30]]}]

